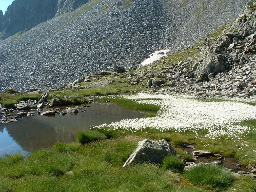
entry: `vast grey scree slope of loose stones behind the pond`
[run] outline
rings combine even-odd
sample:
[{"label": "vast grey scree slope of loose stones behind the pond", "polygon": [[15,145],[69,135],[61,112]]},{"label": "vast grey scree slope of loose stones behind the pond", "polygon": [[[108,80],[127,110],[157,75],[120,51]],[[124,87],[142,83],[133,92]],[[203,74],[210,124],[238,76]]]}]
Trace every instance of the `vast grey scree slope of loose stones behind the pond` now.
[{"label": "vast grey scree slope of loose stones behind the pond", "polygon": [[196,43],[247,3],[91,0],[0,42],[0,92],[51,88],[116,64],[138,66],[156,50]]}]

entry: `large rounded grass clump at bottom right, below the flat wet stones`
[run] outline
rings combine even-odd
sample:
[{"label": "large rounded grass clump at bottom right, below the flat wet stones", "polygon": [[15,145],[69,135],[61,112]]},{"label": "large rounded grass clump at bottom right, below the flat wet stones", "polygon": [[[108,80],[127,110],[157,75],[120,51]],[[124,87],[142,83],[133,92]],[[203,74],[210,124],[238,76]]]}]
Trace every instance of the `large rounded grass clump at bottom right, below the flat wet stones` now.
[{"label": "large rounded grass clump at bottom right, below the flat wet stones", "polygon": [[200,165],[186,171],[183,176],[195,186],[209,190],[220,191],[232,185],[235,181],[232,173],[222,166]]}]

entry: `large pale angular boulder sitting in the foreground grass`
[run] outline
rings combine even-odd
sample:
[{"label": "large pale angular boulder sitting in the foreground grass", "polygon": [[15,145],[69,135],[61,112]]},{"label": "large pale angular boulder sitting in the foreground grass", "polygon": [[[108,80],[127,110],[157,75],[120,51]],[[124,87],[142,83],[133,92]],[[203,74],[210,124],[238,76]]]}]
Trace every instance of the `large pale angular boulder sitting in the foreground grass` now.
[{"label": "large pale angular boulder sitting in the foreground grass", "polygon": [[173,146],[167,143],[165,140],[150,141],[143,140],[138,142],[138,147],[126,160],[123,167],[128,167],[136,163],[161,163],[164,157],[168,155],[176,156],[176,151]]}]

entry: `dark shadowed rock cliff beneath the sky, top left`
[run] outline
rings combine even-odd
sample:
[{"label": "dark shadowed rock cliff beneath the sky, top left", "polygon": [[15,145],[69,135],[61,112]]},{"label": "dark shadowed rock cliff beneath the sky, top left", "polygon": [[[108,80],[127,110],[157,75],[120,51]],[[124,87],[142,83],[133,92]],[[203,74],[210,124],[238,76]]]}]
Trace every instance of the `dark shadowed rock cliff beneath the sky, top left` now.
[{"label": "dark shadowed rock cliff beneath the sky, top left", "polygon": [[0,39],[27,31],[87,2],[88,0],[15,0],[5,15],[0,12]]}]

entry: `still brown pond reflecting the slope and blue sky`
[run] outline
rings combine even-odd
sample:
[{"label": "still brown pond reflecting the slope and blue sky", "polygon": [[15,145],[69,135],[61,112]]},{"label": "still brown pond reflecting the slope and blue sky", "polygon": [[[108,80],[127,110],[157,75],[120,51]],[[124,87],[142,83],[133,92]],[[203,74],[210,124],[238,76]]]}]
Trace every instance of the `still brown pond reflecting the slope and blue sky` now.
[{"label": "still brown pond reflecting the slope and blue sky", "polygon": [[35,113],[35,116],[17,122],[0,124],[0,155],[26,154],[42,147],[52,147],[56,142],[73,142],[77,132],[89,130],[91,125],[142,118],[148,114],[111,103],[91,103],[89,106],[78,114],[43,116]]}]

